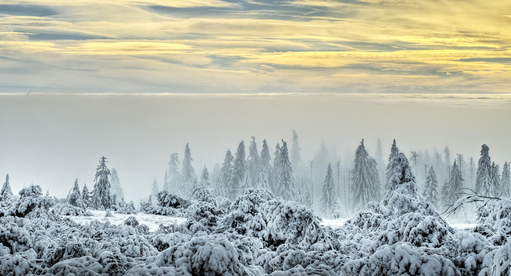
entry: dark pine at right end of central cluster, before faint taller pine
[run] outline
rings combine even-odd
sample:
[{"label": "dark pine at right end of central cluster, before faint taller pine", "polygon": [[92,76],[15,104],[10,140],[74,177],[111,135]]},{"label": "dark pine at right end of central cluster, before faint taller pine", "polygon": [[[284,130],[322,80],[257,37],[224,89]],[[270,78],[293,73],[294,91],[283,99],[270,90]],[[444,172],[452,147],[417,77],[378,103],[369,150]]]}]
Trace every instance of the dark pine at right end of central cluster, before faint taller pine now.
[{"label": "dark pine at right end of central cluster, before faint taller pine", "polygon": [[289,153],[287,143],[282,140],[282,148],[280,154],[281,168],[280,174],[277,175],[277,185],[280,188],[277,192],[284,200],[294,200],[294,177],[293,169],[291,168],[291,162],[289,161]]}]

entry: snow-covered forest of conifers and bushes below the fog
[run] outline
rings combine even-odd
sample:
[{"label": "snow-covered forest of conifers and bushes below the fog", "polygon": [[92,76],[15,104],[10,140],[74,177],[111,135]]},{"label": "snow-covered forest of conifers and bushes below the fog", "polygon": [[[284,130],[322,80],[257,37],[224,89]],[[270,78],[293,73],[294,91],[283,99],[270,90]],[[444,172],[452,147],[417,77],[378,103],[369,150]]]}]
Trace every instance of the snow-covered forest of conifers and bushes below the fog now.
[{"label": "snow-covered forest of conifers and bushes below the fog", "polygon": [[[407,154],[393,140],[384,160],[380,139],[374,157],[362,139],[341,162],[323,142],[304,160],[293,130],[271,153],[241,141],[211,175],[191,152],[171,154],[161,189],[154,179],[137,203],[104,156],[94,187],[70,181],[65,198],[37,185],[15,194],[7,175],[0,274],[511,275],[509,164],[487,145],[478,160],[451,159],[448,146]],[[151,229],[141,213],[183,222]]]}]

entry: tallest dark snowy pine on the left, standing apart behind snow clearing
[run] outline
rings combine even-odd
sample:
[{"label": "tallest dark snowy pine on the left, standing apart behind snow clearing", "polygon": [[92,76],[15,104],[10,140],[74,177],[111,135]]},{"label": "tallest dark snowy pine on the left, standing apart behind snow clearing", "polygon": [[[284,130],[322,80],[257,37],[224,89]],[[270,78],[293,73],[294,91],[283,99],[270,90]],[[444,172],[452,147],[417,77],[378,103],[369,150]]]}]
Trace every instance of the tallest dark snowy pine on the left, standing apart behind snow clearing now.
[{"label": "tallest dark snowy pine on the left, standing apart behind snow clearing", "polygon": [[112,197],[110,195],[110,170],[106,167],[107,161],[105,156],[101,157],[100,165],[96,169],[96,181],[94,190],[92,190],[91,207],[96,210],[107,210],[112,205]]}]

